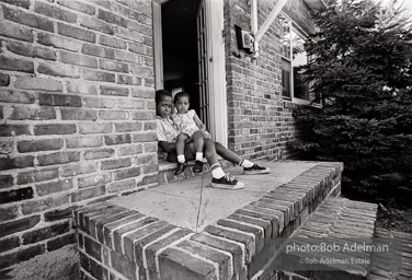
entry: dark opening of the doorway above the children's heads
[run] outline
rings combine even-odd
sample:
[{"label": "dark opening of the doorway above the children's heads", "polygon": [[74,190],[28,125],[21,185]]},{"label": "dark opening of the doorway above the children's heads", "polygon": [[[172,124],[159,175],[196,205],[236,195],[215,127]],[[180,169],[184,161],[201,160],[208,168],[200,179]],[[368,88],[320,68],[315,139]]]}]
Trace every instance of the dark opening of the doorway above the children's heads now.
[{"label": "dark opening of the doorway above the children's heads", "polygon": [[191,94],[199,113],[196,13],[201,0],[170,0],[161,5],[164,89]]}]

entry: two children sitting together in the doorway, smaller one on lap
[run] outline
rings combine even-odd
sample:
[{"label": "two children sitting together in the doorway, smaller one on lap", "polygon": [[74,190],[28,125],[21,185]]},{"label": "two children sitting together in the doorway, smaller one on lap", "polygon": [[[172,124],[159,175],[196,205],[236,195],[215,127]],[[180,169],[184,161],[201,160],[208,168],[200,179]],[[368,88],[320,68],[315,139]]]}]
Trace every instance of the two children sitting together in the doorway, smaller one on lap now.
[{"label": "two children sitting together in the doorway, smaller one on lap", "polygon": [[244,174],[265,174],[271,170],[242,159],[222,144],[214,142],[194,110],[188,110],[190,95],[178,93],[174,98],[178,113],[172,112],[173,97],[169,91],[156,92],[157,133],[160,148],[168,153],[167,160],[178,162],[175,174],[182,173],[186,161],[196,160],[194,172],[203,171],[203,155],[210,165],[211,186],[217,188],[240,189],[243,183],[229,176],[221,168],[217,155],[239,164]]}]

